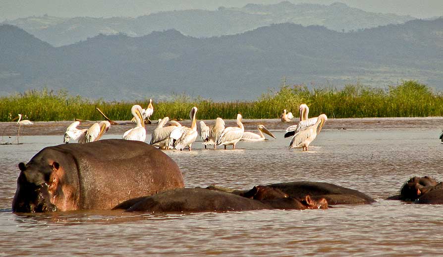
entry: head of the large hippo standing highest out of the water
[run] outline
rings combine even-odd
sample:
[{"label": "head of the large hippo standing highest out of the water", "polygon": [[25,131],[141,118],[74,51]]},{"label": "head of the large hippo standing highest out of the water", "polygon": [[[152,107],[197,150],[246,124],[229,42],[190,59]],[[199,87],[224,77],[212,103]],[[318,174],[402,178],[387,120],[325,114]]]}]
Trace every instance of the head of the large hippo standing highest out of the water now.
[{"label": "head of the large hippo standing highest out of the water", "polygon": [[69,209],[66,205],[67,179],[60,164],[52,160],[31,160],[18,164],[20,174],[12,200],[14,212],[45,212]]}]

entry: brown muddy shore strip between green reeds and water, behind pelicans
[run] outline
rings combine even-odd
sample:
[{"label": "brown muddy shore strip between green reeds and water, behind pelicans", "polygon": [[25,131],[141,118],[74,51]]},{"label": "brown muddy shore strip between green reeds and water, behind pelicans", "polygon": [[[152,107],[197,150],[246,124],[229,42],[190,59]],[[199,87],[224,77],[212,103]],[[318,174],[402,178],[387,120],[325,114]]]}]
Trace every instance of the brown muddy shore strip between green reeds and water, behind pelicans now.
[{"label": "brown muddy shore strip between green reeds and water, behind pelicans", "polygon": [[[197,120],[197,124],[201,120]],[[214,125],[215,120],[203,120],[206,125]],[[235,119],[224,120],[226,127],[236,126]],[[20,128],[20,136],[52,136],[63,135],[67,126],[73,121],[36,121],[33,125],[25,125]],[[107,134],[119,135],[126,130],[133,128],[134,123],[130,121],[115,121],[118,125],[111,125]],[[155,122],[155,123],[154,123]],[[190,126],[190,120],[179,121],[183,126]],[[285,130],[287,127],[297,124],[298,119],[292,122],[281,122],[280,119],[242,119],[245,130],[257,130],[258,124],[265,125],[269,130]],[[85,121],[78,127],[89,128],[95,121]],[[157,127],[157,120],[152,124],[147,124],[146,133],[150,135]],[[331,118],[325,124],[328,129],[443,129],[443,117],[383,117],[383,118]],[[199,128],[200,129],[200,128]],[[18,124],[16,122],[0,122],[0,136],[16,136]]]}]

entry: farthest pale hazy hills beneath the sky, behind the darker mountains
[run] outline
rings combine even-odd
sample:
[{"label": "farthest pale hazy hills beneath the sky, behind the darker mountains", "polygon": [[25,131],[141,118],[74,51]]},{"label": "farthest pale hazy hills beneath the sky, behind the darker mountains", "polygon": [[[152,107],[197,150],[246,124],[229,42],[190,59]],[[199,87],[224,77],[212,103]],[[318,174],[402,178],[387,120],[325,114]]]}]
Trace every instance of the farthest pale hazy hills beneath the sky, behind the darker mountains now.
[{"label": "farthest pale hazy hills beneath the sky, behind the darker mountains", "polygon": [[233,35],[286,22],[305,26],[322,25],[341,32],[399,24],[412,19],[411,16],[366,12],[343,3],[322,5],[283,1],[268,5],[247,4],[242,8],[220,7],[214,11],[166,11],[137,18],[60,18],[45,15],[4,23],[18,26],[53,46],[63,46],[100,33],[112,35],[122,32],[140,37],[153,31],[175,29],[184,35],[201,38]]}]

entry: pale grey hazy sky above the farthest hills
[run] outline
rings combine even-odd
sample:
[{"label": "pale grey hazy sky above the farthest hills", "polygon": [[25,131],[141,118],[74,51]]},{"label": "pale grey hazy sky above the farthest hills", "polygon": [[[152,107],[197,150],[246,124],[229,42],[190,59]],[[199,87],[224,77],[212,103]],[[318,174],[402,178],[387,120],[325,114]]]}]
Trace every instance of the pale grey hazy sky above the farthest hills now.
[{"label": "pale grey hazy sky above the farthest hills", "polygon": [[[111,17],[149,14],[180,9],[241,7],[246,3],[277,3],[282,0],[0,0],[0,21],[27,16]],[[409,14],[417,18],[443,16],[443,0],[290,0],[293,3],[344,2],[366,11]]]}]

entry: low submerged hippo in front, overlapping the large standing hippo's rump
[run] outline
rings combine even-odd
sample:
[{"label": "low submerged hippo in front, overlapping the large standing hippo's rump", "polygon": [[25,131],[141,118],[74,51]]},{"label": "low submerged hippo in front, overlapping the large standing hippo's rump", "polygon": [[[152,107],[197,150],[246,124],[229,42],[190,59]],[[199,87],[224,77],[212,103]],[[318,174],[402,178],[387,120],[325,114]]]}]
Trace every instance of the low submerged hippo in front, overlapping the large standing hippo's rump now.
[{"label": "low submerged hippo in front, overlapping the large standing hippo's rump", "polygon": [[[148,212],[207,212],[207,211],[243,211],[261,209],[325,209],[328,207],[326,200],[316,202],[309,196],[303,199],[288,198],[286,195],[277,197],[274,193],[260,193],[272,191],[271,188],[259,187],[252,189],[262,200],[243,197],[224,191],[210,190],[207,188],[182,188],[164,191],[162,193],[131,199],[123,202],[113,209],[125,211]],[[269,195],[266,199],[264,195]],[[252,195],[252,194],[250,194]]]}]

